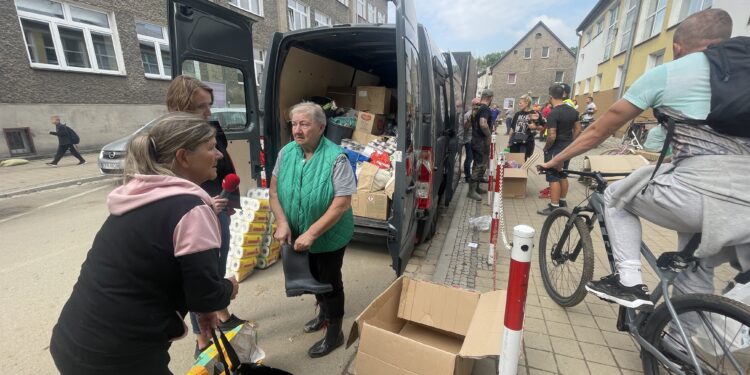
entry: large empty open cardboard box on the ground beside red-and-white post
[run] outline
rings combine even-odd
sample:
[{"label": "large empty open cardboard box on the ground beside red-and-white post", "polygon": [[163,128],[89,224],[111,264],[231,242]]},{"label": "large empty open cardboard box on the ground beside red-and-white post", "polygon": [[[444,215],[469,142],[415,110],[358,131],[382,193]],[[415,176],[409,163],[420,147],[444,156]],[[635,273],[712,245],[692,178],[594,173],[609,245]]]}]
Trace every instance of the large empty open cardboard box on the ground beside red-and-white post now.
[{"label": "large empty open cardboard box on the ground beside red-and-white post", "polygon": [[506,292],[400,277],[357,317],[357,375],[468,375],[502,348]]}]

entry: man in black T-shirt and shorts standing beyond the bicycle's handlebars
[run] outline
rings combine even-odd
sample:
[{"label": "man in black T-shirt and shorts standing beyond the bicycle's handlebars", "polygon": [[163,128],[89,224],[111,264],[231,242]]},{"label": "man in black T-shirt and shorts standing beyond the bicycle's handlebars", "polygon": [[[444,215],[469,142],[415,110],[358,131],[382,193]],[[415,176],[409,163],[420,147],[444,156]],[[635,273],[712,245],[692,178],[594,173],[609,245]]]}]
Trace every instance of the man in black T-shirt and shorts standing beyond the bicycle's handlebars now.
[{"label": "man in black T-shirt and shorts standing beyond the bicycle's handlebars", "polygon": [[[544,145],[544,161],[552,160],[555,155],[568,147],[581,133],[578,122],[578,111],[565,104],[565,88],[554,84],[549,88],[552,110],[547,117],[547,143]],[[569,161],[563,168],[568,168]],[[550,203],[537,211],[540,215],[549,215],[558,207],[567,207],[565,196],[568,194],[568,179],[565,176],[547,175],[550,187]]]}]

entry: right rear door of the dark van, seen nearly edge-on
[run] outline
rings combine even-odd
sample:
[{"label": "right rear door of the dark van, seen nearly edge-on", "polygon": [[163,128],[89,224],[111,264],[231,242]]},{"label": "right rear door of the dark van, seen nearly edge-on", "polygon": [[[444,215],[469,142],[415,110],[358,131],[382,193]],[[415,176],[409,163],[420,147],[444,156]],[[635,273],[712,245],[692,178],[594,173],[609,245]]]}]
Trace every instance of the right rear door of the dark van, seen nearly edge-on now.
[{"label": "right rear door of the dark van, seen nearly edge-on", "polygon": [[390,225],[395,229],[389,238],[388,250],[393,269],[398,275],[404,271],[414,251],[417,232],[417,158],[421,145],[419,128],[420,66],[417,16],[412,0],[396,0],[396,53],[398,64],[398,151],[396,160],[396,186],[393,195],[393,217]]}]

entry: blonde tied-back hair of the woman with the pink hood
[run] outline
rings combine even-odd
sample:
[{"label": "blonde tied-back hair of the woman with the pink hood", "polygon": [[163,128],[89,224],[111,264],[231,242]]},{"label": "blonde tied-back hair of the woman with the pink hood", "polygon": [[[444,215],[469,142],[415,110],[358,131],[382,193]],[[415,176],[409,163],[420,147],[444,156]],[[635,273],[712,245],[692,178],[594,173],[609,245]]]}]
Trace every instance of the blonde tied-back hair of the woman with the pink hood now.
[{"label": "blonde tied-back hair of the woman with the pink hood", "polygon": [[213,139],[216,130],[202,117],[172,112],[158,120],[148,132],[140,133],[128,143],[124,181],[136,174],[175,176],[177,150],[195,150]]}]

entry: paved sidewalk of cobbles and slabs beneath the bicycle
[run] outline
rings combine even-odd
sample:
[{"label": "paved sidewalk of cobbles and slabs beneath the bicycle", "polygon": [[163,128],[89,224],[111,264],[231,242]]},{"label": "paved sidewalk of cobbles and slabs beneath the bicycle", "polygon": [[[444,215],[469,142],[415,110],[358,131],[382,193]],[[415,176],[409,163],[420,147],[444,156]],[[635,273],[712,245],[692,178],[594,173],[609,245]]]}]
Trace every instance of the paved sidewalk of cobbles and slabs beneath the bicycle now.
[{"label": "paved sidewalk of cobbles and slabs beneath the bicycle", "polygon": [[[503,136],[498,142],[504,144]],[[599,154],[618,144],[610,139],[589,154]],[[541,146],[541,144],[538,144]],[[539,148],[539,147],[538,147]],[[571,169],[582,166],[583,157],[571,162]],[[570,180],[569,205],[586,199],[586,187]],[[530,173],[526,198],[505,199],[505,223],[508,236],[519,224],[531,225],[537,230],[535,243],[544,216],[536,211],[548,200],[537,197],[546,187],[543,176]],[[466,289],[488,291],[507,287],[510,253],[498,244],[496,271],[487,264],[489,232],[475,232],[469,228],[472,217],[489,215],[490,207],[484,202],[466,199],[466,184],[460,184],[451,207],[443,213],[438,234],[431,243],[420,246],[406,269],[412,277],[433,280]],[[657,254],[673,251],[677,236],[674,232],[643,222],[644,241]],[[594,279],[610,273],[599,229],[592,233],[595,253]],[[470,248],[469,243],[477,243]],[[442,253],[441,253],[442,248]],[[436,263],[437,262],[437,263]],[[646,267],[648,268],[648,267]],[[716,272],[717,289],[726,285],[733,276],[729,267]],[[644,274],[646,283],[654,288],[656,277],[650,270]],[[538,255],[532,255],[531,277],[525,310],[523,352],[519,360],[519,374],[640,374],[642,373],[639,349],[627,334],[617,331],[616,305],[587,296],[577,306],[562,308],[547,296],[539,274]],[[494,360],[478,361],[474,374],[494,374]]]}]

